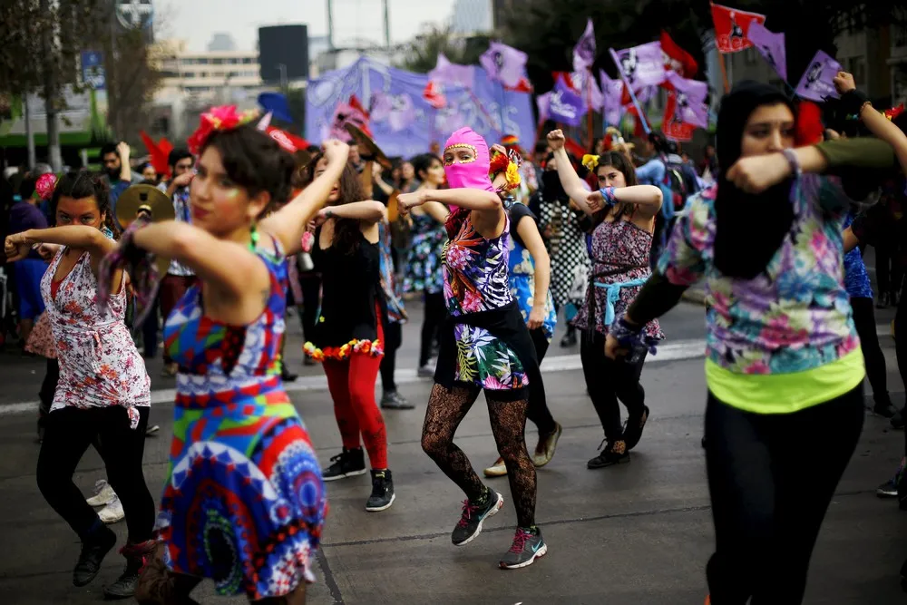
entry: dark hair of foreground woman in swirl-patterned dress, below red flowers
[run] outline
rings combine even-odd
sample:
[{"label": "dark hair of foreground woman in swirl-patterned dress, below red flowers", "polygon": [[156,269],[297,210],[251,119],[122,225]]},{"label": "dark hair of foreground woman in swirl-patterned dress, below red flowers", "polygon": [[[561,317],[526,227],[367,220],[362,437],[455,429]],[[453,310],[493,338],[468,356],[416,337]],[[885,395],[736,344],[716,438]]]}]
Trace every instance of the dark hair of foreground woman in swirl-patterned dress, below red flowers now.
[{"label": "dark hair of foreground woman in swirl-patterned dress, below red flowers", "polygon": [[271,200],[259,216],[267,216],[289,200],[293,156],[255,126],[244,124],[229,131],[211,132],[200,155],[209,147],[219,151],[220,163],[230,181],[245,189],[249,198],[268,191]]}]

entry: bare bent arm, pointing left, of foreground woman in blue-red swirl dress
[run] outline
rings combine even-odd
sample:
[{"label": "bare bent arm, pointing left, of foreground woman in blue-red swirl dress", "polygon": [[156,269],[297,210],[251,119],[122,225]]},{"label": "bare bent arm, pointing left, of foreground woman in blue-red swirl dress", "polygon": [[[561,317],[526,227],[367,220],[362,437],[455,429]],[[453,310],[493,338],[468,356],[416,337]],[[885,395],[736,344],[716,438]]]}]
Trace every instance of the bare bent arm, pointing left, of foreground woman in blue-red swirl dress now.
[{"label": "bare bent arm, pointing left, of foreground woman in blue-red swirl dress", "polygon": [[233,298],[268,288],[268,269],[258,256],[234,241],[217,239],[186,222],[165,220],[143,227],[135,232],[135,245],[179,260],[201,280]]}]

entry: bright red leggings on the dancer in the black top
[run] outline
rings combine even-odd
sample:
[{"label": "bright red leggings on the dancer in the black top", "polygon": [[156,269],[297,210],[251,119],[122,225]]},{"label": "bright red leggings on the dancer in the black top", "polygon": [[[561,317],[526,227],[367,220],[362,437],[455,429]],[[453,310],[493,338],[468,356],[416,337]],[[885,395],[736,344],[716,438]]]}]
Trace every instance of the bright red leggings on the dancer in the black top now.
[{"label": "bright red leggings on the dancer in the black top", "polygon": [[348,450],[359,447],[361,434],[372,468],[387,468],[385,419],[375,403],[375,379],[381,357],[353,353],[343,361],[325,359],[322,365],[343,446]]}]

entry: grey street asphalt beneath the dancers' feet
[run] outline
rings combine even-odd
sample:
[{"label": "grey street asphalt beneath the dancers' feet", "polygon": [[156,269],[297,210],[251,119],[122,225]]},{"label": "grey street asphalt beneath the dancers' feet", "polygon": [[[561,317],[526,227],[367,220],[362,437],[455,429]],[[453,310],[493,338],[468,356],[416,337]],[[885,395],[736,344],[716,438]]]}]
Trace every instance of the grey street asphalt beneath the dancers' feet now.
[{"label": "grey street asphalt beneath the dancers' feet", "polygon": [[[414,377],[419,305],[405,327],[398,356],[400,391],[416,404],[410,411],[385,412],[389,456],[397,499],[385,512],[366,512],[368,476],[328,483],[331,510],[317,557],[317,583],[310,605],[488,604],[523,605],[700,605],[707,593],[704,568],[712,549],[704,455],[700,446],[705,401],[704,322],[701,306],[683,303],[663,321],[668,341],[642,383],[652,419],[631,464],[589,471],[602,434],[585,392],[575,355],[552,345],[545,385],[551,411],[564,426],[557,455],[539,470],[537,521],[549,552],[529,568],[501,571],[498,558],[510,547],[515,524],[506,479],[488,480],[503,494],[501,514],[463,548],[450,532],[460,515],[463,493],[422,452],[420,434],[431,383]],[[903,385],[886,325],[877,323],[888,358],[889,388],[903,405]],[[288,364],[303,376],[289,385],[323,463],[340,450],[332,404],[319,367],[301,365],[301,334],[290,326]],[[561,337],[559,330],[556,340]],[[169,396],[172,379],[160,378],[160,360],[148,361],[158,400]],[[44,503],[34,468],[34,400],[44,362],[12,350],[0,353],[0,603],[93,603],[112,582],[123,560],[111,554],[89,586],[73,587],[79,552],[73,532]],[[868,388],[868,387],[867,387]],[[380,392],[380,391],[379,391]],[[867,391],[869,393],[869,391]],[[867,398],[870,402],[871,397]],[[145,478],[157,499],[167,471],[172,404],[152,407],[161,432],[145,447]],[[532,447],[536,435],[527,429]],[[477,469],[496,457],[483,398],[457,434]],[[816,546],[805,603],[887,605],[907,601],[898,571],[907,557],[907,513],[875,496],[903,451],[903,435],[867,414],[863,437],[838,486]],[[91,495],[104,477],[94,451],[83,458],[75,481]],[[803,478],[809,481],[809,477]],[[125,524],[112,526],[122,541]],[[193,595],[202,603],[244,603],[216,598],[210,582]]]}]

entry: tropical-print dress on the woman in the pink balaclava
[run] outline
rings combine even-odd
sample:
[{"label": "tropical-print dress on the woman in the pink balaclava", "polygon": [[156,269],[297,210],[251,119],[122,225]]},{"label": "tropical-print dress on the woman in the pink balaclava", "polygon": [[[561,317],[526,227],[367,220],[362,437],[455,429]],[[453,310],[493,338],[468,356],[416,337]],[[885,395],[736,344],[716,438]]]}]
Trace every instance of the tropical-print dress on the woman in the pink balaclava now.
[{"label": "tropical-print dress on the woman in the pink balaclava", "polygon": [[[444,301],[453,317],[506,307],[513,302],[507,280],[510,218],[503,232],[485,239],[473,228],[470,212],[447,219],[450,239],[444,245]],[[454,380],[488,390],[522,388],[529,384],[520,358],[482,327],[454,324],[457,355]]]}]

